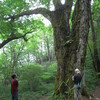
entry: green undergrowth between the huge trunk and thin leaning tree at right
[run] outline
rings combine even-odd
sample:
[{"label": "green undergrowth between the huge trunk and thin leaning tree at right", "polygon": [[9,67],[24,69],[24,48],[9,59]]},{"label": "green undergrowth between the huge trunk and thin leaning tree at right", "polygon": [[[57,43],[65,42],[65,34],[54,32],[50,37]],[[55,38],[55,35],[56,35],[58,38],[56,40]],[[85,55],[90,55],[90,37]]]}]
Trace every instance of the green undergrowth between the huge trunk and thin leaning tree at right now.
[{"label": "green undergrowth between the huge trunk and thin leaning tree at right", "polygon": [[91,58],[89,52],[90,51],[87,49],[87,56],[85,61],[85,81],[88,90],[93,90],[97,86],[99,79],[97,77],[97,72],[93,67],[93,62],[92,62],[93,59]]}]

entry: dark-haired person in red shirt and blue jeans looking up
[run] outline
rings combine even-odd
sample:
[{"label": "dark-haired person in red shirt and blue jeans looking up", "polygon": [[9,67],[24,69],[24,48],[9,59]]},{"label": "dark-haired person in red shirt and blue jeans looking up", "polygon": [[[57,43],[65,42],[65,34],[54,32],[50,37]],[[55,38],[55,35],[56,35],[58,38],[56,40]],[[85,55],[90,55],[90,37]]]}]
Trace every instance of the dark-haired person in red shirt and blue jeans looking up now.
[{"label": "dark-haired person in red shirt and blue jeans looking up", "polygon": [[18,80],[17,75],[12,75],[11,80],[11,100],[18,100]]}]

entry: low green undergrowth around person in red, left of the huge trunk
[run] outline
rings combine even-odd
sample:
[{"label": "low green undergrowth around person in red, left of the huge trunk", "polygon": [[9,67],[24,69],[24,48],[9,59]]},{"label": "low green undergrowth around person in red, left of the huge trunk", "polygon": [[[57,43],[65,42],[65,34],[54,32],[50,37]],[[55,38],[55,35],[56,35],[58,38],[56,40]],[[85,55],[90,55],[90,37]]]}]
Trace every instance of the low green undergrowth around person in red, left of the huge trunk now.
[{"label": "low green undergrowth around person in red, left of the huge trunk", "polygon": [[[17,71],[19,81],[19,100],[38,100],[46,96],[48,99],[54,91],[56,62],[45,68],[39,64],[24,65]],[[10,83],[5,87],[0,82],[0,100],[11,99]]]}]

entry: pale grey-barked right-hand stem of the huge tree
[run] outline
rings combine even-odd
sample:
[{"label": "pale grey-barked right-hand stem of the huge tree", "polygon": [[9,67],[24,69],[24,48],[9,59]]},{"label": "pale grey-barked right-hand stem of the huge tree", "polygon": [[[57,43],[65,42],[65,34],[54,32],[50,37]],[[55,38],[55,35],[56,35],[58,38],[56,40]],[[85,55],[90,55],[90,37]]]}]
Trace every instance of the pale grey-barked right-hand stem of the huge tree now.
[{"label": "pale grey-barked right-hand stem of the huge tree", "polygon": [[[76,64],[75,66],[81,70],[83,80],[82,80],[82,93],[85,91],[85,77],[84,77],[84,64],[85,64],[85,56],[86,56],[86,47],[88,42],[88,32],[89,32],[89,7],[90,7],[90,0],[78,0],[77,3],[79,4],[79,12],[78,16],[79,19],[77,20],[77,24],[79,26],[78,35],[79,35],[79,43],[77,46],[76,52]],[[77,7],[77,8],[78,8]],[[74,15],[75,16],[75,15]],[[75,26],[74,26],[75,27]]]}]

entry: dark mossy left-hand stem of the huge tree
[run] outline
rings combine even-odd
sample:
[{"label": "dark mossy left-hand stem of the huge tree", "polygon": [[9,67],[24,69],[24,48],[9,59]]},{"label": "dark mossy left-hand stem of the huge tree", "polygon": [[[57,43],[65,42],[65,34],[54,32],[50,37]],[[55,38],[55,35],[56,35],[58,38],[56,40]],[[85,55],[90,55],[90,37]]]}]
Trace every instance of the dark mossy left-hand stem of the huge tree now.
[{"label": "dark mossy left-hand stem of the huge tree", "polygon": [[[65,8],[60,7],[59,9],[53,12],[53,16],[51,18],[53,30],[54,30],[54,47],[55,47],[55,55],[57,60],[57,76],[56,76],[56,86],[55,86],[55,95],[58,99],[60,94],[65,94],[68,91],[69,87],[66,87],[66,81],[69,79],[71,81],[71,53],[70,53],[70,44],[69,35],[69,16],[71,7],[69,8],[69,12],[67,12],[66,18],[66,10]],[[67,22],[66,22],[67,20]],[[64,98],[63,98],[64,100]]]}]

